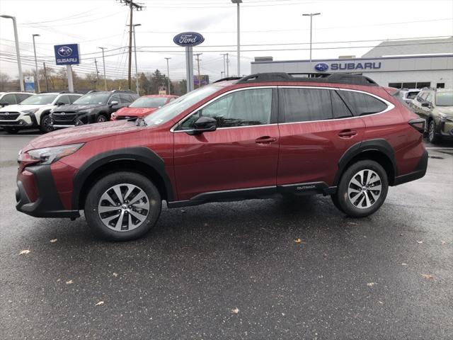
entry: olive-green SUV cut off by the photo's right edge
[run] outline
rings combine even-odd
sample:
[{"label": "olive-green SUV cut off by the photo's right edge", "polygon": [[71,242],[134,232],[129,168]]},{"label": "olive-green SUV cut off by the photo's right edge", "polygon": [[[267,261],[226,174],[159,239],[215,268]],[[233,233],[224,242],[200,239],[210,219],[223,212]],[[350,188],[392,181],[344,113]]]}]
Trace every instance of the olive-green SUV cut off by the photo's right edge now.
[{"label": "olive-green SUV cut off by the photo's right edge", "polygon": [[411,108],[426,121],[431,143],[453,139],[453,89],[423,89]]}]

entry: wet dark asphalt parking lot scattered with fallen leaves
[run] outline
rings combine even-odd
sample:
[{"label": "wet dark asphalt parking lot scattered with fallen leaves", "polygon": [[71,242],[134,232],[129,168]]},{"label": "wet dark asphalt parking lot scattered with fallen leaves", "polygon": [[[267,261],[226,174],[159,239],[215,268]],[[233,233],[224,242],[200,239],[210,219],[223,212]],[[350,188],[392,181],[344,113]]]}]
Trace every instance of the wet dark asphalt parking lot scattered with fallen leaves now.
[{"label": "wet dark asphalt parking lot scattered with fallen leaves", "polygon": [[361,220],[323,196],[210,203],[110,243],[16,211],[34,134],[0,132],[0,339],[453,337],[452,143]]}]

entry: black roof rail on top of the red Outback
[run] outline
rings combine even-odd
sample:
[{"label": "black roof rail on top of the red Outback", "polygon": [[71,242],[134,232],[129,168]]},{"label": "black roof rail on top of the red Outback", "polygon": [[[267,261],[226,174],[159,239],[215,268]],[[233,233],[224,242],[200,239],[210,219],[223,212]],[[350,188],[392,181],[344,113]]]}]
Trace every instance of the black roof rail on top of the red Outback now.
[{"label": "black roof rail on top of the red Outback", "polygon": [[377,83],[361,74],[350,73],[331,73],[331,74],[306,74],[314,77],[294,77],[292,74],[285,72],[257,73],[239,79],[236,84],[248,82],[263,81],[294,81],[294,82],[316,82],[316,83],[335,83],[335,84],[352,84],[378,86]]}]

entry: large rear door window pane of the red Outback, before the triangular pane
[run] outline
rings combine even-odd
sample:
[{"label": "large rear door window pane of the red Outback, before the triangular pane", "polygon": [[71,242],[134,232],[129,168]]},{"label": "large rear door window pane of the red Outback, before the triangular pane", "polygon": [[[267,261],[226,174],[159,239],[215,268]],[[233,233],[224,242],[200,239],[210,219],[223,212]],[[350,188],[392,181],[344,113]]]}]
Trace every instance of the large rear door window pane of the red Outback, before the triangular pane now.
[{"label": "large rear door window pane of the red Outback, before the triangular pane", "polygon": [[279,89],[279,123],[332,119],[331,94],[328,89]]}]

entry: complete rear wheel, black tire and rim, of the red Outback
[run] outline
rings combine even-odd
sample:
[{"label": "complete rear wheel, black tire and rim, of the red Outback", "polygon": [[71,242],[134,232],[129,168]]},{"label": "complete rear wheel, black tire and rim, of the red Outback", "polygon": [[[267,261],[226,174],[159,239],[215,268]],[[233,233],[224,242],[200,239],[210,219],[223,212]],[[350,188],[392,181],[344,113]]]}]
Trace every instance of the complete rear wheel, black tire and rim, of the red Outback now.
[{"label": "complete rear wheel, black tire and rim, of the red Outback", "polygon": [[[355,183],[361,183],[361,186]],[[384,168],[379,163],[366,159],[346,169],[332,200],[346,215],[366,217],[381,208],[388,191],[389,180]]]}]

